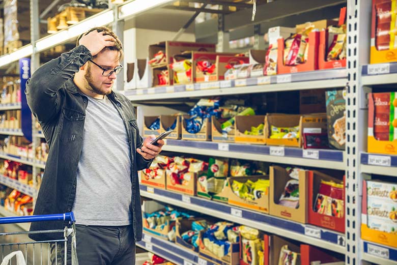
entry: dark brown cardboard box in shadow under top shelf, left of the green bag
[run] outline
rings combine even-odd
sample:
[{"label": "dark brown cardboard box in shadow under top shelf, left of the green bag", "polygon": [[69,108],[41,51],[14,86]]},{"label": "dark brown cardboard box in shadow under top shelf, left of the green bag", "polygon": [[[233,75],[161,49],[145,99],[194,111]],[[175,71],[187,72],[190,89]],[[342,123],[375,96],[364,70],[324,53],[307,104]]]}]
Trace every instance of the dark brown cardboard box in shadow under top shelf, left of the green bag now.
[{"label": "dark brown cardboard box in shadow under top shelf, left of the green bag", "polygon": [[299,113],[326,112],[324,90],[301,90],[299,91]]}]

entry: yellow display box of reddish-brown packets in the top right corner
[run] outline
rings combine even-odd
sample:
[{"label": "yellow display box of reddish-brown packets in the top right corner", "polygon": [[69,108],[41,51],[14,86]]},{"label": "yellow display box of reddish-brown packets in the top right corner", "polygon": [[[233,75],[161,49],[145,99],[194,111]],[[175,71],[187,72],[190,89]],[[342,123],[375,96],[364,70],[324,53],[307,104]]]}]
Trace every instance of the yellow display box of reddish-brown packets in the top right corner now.
[{"label": "yellow display box of reddish-brown packets in the top right corner", "polygon": [[371,64],[397,62],[395,1],[372,0]]}]

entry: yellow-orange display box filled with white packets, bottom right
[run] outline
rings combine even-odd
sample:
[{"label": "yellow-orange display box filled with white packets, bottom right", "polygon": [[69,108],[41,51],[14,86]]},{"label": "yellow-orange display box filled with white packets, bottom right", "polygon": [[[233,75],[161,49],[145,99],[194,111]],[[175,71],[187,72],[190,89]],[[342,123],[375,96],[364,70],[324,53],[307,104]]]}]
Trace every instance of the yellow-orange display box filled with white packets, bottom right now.
[{"label": "yellow-orange display box filled with white packets, bottom right", "polygon": [[363,181],[361,238],[397,246],[397,184]]}]

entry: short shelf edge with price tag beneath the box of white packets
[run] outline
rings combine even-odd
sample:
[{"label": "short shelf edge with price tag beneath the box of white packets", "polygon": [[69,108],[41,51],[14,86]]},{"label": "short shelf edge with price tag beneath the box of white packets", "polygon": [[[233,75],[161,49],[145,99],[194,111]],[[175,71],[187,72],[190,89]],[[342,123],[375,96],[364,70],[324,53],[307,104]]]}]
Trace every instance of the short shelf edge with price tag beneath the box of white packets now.
[{"label": "short shelf edge with price tag beneath the box of white packets", "polygon": [[363,259],[382,265],[397,264],[397,248],[362,241]]}]

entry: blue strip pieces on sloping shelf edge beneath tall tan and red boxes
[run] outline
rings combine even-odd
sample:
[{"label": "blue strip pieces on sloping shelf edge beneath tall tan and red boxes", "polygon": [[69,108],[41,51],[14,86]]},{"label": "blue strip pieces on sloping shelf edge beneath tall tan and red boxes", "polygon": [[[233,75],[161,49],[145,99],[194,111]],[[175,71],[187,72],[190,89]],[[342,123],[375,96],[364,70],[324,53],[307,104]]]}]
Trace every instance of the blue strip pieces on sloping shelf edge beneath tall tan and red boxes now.
[{"label": "blue strip pieces on sloping shelf edge beneath tall tan and red boxes", "polygon": [[[139,185],[139,187],[140,187],[140,190],[147,191],[147,187],[145,185]],[[167,190],[161,190],[161,189],[154,188],[154,194],[164,196],[164,198],[172,198],[175,200],[183,201],[182,194],[170,192]],[[200,207],[204,207],[204,208],[208,208],[208,209],[215,210],[218,212],[222,212],[225,214],[231,214],[232,208],[233,209],[238,208],[238,207],[234,207],[234,206],[232,207],[229,204],[224,204],[224,203],[215,202],[212,200],[207,200],[207,199],[203,199],[203,198],[199,198],[199,197],[191,197],[191,196],[190,196],[190,203],[195,204]],[[283,219],[276,218],[276,217],[273,217],[268,214],[261,214],[261,213],[257,213],[257,212],[248,211],[243,208],[238,208],[238,209],[240,209],[242,211],[242,218],[244,218],[244,219],[256,221],[258,223],[263,223],[266,225],[279,227],[279,228],[285,229],[286,231],[293,231],[293,232],[300,233],[303,235],[305,234],[306,225],[304,225],[304,224],[300,224],[300,223],[296,223],[296,222],[292,222],[292,221],[288,221],[288,220],[283,220]],[[311,227],[311,226],[309,226],[309,227]],[[342,242],[340,242],[341,235],[343,235],[343,234],[325,230],[325,229],[322,229],[321,227],[316,227],[316,228],[321,230],[321,240],[328,241],[328,242],[334,243],[336,245],[339,245],[341,243],[342,243],[341,245],[344,244],[344,240]],[[343,237],[344,237],[344,235],[343,235]]]}]

